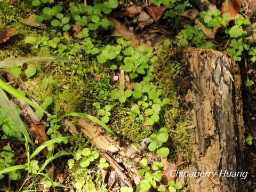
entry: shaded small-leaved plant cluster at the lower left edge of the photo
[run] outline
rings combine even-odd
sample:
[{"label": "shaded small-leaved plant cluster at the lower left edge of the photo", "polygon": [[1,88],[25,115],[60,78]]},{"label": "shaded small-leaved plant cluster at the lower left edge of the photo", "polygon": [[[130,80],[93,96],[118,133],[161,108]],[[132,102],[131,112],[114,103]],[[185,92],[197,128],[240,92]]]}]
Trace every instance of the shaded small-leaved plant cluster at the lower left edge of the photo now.
[{"label": "shaded small-leaved plant cluster at the lower left edge of the photo", "polygon": [[[10,146],[4,146],[3,151],[0,153],[0,171],[6,169],[7,167],[11,167],[15,164],[13,157],[15,156],[14,151]],[[9,178],[11,180],[20,180],[21,173],[19,170],[14,170],[8,173]],[[0,174],[0,180],[4,178],[4,174]]]}]

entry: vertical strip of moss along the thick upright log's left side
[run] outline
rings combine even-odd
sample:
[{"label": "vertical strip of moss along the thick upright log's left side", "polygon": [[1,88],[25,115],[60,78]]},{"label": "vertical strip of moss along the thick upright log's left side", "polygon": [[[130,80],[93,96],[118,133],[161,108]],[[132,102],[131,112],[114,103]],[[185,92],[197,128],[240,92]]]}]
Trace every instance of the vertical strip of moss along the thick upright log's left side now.
[{"label": "vertical strip of moss along the thick upright log's left side", "polygon": [[163,89],[164,97],[171,102],[164,106],[159,127],[166,127],[169,131],[171,142],[171,156],[177,157],[182,154],[186,161],[191,156],[190,129],[188,129],[190,119],[188,111],[179,107],[180,98],[177,93],[175,79],[180,77],[182,66],[178,62],[181,60],[179,51],[175,49],[163,51],[158,55],[158,66],[156,71],[156,82]]}]

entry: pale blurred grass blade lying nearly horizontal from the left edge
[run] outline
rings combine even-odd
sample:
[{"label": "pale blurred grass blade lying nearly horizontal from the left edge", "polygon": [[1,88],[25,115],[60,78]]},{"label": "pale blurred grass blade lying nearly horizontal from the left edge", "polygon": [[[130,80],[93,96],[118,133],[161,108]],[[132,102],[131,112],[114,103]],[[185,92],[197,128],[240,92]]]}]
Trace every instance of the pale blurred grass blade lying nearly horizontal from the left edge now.
[{"label": "pale blurred grass blade lying nearly horizontal from the left edge", "polygon": [[2,67],[10,67],[10,66],[18,66],[20,63],[26,63],[31,61],[62,61],[62,62],[75,62],[70,59],[62,58],[62,57],[55,57],[55,56],[36,56],[36,57],[21,57],[15,59],[5,59],[0,61],[0,68]]}]

